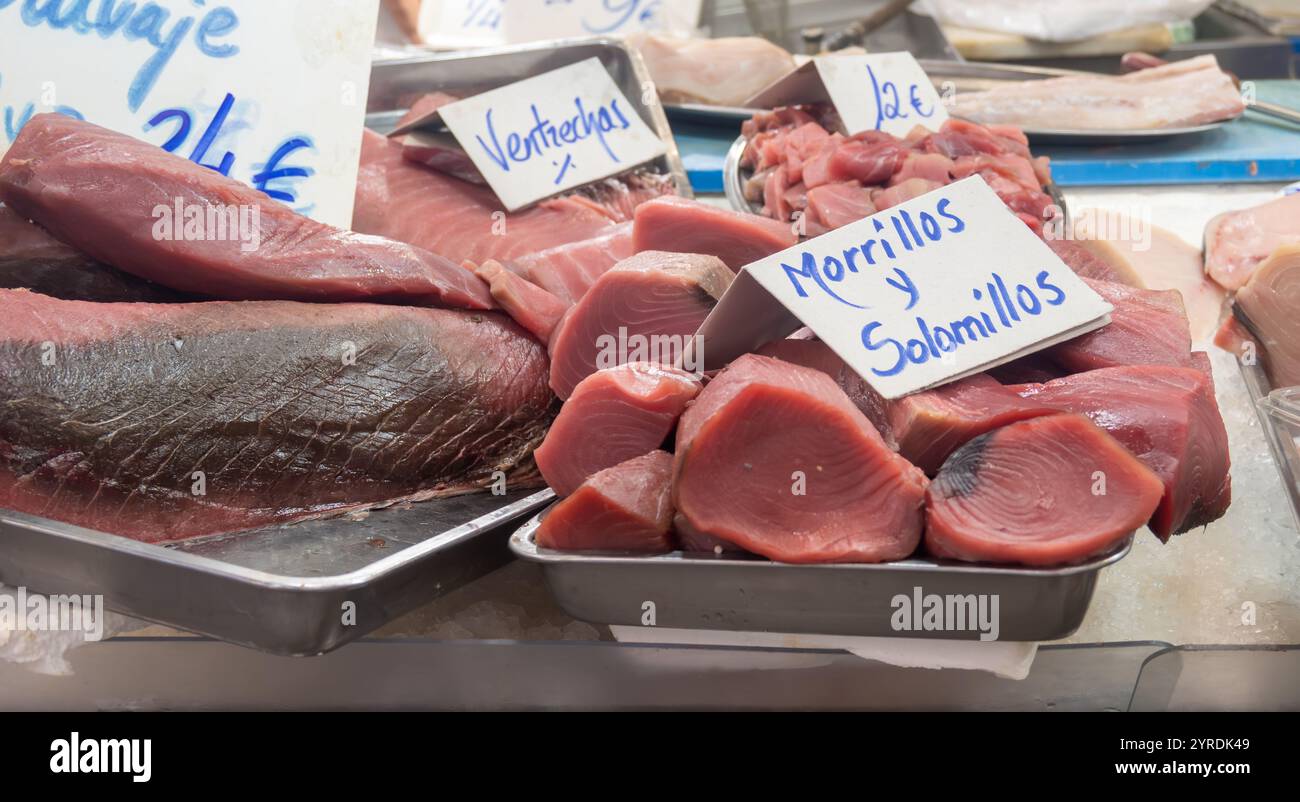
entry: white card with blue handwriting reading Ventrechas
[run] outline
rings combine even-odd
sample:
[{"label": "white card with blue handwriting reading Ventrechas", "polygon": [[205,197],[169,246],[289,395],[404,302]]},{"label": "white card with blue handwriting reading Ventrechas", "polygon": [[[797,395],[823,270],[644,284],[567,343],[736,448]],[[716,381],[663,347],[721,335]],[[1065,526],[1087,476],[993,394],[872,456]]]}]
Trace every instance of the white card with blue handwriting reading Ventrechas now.
[{"label": "white card with blue handwriting reading Ventrechas", "polygon": [[439,114],[511,212],[667,151],[598,58],[448,103]]}]

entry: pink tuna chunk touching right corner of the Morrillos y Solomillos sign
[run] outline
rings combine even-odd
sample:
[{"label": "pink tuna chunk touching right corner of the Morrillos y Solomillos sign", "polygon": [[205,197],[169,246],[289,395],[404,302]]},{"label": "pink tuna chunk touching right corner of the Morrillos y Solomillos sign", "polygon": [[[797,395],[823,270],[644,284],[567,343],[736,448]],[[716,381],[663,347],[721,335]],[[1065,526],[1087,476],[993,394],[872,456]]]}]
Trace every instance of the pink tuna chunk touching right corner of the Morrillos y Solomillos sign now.
[{"label": "pink tuna chunk touching right corner of the Morrillos y Solomillos sign", "polygon": [[1071,373],[1118,365],[1192,365],[1192,334],[1178,290],[1083,279],[1110,302],[1110,322],[1050,350]]}]

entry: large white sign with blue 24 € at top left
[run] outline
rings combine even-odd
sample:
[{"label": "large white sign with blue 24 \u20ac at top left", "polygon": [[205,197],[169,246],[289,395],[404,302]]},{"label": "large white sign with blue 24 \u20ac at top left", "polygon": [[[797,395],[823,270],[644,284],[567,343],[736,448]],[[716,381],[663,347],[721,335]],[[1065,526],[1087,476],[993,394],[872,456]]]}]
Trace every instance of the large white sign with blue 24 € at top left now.
[{"label": "large white sign with blue 24 \u20ac at top left", "polygon": [[378,0],[0,1],[0,152],[62,112],[348,226]]}]

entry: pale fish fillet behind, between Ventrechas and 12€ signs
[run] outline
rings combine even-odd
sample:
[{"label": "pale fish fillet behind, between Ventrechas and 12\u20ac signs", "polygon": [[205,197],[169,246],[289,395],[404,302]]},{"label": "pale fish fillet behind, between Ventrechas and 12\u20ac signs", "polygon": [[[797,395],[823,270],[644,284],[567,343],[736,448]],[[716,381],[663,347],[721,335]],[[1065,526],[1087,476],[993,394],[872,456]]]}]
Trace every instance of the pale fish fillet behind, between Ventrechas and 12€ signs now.
[{"label": "pale fish fillet behind, between Ventrechas and 12\u20ac signs", "polygon": [[633,34],[650,78],[666,103],[741,105],[794,69],[794,58],[758,36],[684,39]]}]

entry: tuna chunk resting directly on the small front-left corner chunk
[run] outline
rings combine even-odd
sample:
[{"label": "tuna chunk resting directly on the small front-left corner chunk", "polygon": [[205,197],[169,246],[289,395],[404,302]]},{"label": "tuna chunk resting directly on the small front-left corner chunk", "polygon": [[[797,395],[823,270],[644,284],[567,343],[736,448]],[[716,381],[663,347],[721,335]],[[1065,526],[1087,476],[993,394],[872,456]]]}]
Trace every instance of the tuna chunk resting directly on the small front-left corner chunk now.
[{"label": "tuna chunk resting directly on the small front-left corner chunk", "polygon": [[569,495],[595,472],[663,446],[699,387],[690,373],[650,363],[597,370],[560,408],[537,468],[551,490]]}]

